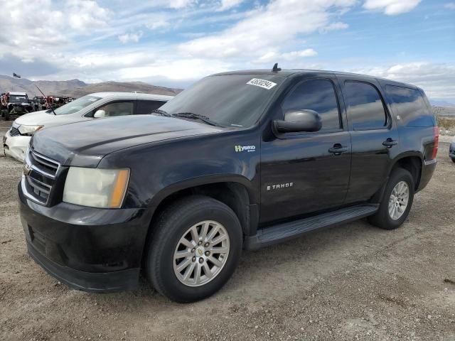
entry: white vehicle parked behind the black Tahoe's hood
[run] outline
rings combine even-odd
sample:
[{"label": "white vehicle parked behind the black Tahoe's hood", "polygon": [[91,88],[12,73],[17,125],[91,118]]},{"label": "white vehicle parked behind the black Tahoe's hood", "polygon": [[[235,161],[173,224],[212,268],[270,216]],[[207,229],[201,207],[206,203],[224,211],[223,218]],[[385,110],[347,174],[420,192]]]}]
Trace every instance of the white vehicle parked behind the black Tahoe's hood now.
[{"label": "white vehicle parked behind the black Tahoe's hood", "polygon": [[23,161],[35,131],[48,126],[134,114],[150,114],[173,96],[132,92],[97,92],[87,94],[54,110],[31,112],[18,117],[3,138],[4,152]]}]

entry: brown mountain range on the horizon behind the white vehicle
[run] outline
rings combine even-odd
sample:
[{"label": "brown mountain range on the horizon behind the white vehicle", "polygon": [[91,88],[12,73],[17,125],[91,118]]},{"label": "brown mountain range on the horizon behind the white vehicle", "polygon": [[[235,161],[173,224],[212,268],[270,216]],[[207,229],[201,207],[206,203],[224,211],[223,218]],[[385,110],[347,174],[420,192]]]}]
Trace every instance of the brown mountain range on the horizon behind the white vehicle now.
[{"label": "brown mountain range on the horizon behind the white vehicle", "polygon": [[29,98],[41,96],[38,86],[46,95],[82,97],[93,92],[119,91],[119,92],[144,92],[146,94],[175,95],[181,89],[159,87],[144,82],[100,82],[85,83],[82,80],[27,80],[26,78],[13,78],[0,75],[0,92],[18,91],[26,92]]}]

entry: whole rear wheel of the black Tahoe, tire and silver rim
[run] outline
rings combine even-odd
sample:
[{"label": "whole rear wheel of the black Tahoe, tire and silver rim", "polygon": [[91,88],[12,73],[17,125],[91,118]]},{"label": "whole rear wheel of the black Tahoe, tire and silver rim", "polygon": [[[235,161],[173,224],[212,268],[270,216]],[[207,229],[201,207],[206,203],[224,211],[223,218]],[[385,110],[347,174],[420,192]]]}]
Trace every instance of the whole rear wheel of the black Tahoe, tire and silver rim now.
[{"label": "whole rear wheel of the black Tahoe, tire and silver rim", "polygon": [[[402,183],[405,183],[407,185],[408,191],[407,203],[404,210],[400,210],[400,207],[403,207],[402,204],[404,202],[403,200],[405,200],[406,195],[400,195],[399,197],[395,197],[394,195],[394,197],[392,197],[395,186],[399,184],[401,186]],[[398,186],[397,189],[400,189],[400,186]],[[403,192],[405,193],[405,186],[402,188]],[[400,227],[401,224],[405,222],[407,215],[409,215],[409,212],[411,210],[412,202],[414,200],[414,188],[414,178],[412,178],[411,173],[403,168],[395,168],[395,170],[392,171],[389,182],[386,185],[382,201],[380,202],[379,210],[375,215],[368,217],[368,222],[377,227],[380,227],[381,229],[397,229]],[[397,193],[400,193],[400,190],[398,190]],[[397,200],[394,200],[394,198],[397,198]],[[390,200],[394,200],[394,205],[397,206],[395,207],[395,217],[392,217],[392,213],[389,210]],[[391,208],[393,210],[393,206]],[[400,215],[400,217],[397,217],[397,215]]]}]

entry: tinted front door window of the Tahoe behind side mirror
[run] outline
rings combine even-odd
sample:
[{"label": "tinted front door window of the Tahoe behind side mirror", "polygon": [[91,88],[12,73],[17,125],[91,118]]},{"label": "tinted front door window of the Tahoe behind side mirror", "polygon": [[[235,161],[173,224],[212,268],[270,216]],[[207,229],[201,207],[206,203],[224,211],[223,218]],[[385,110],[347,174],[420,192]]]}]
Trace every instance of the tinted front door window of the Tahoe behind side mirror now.
[{"label": "tinted front door window of the Tahoe behind side mirror", "polygon": [[330,80],[308,80],[292,90],[282,103],[282,112],[314,110],[321,115],[321,131],[341,129],[335,89]]}]

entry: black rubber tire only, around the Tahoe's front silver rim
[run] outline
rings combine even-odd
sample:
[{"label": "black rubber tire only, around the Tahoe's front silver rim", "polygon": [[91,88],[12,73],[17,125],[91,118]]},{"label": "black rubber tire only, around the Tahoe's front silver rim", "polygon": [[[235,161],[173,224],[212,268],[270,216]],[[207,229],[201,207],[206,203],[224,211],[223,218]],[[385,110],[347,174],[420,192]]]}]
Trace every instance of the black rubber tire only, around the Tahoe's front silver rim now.
[{"label": "black rubber tire only, around the Tahoe's front silver rim", "polygon": [[[223,204],[222,204],[223,205]],[[208,209],[198,209],[189,214],[182,215],[175,220],[173,224],[164,222],[161,228],[167,231],[167,237],[160,245],[152,245],[149,250],[149,259],[152,263],[158,261],[159,264],[151,264],[153,266],[149,271],[159,271],[156,274],[161,278],[161,282],[166,287],[166,296],[170,296],[175,301],[192,302],[198,301],[205,297],[211,296],[218,291],[230,278],[237,267],[242,253],[242,228],[240,222],[234,212],[228,207],[207,207]],[[178,241],[183,234],[194,224],[204,220],[213,220],[225,227],[230,239],[230,251],[223,269],[210,282],[203,286],[191,287],[181,283],[174,274],[173,270],[173,254],[177,247]]]}]

